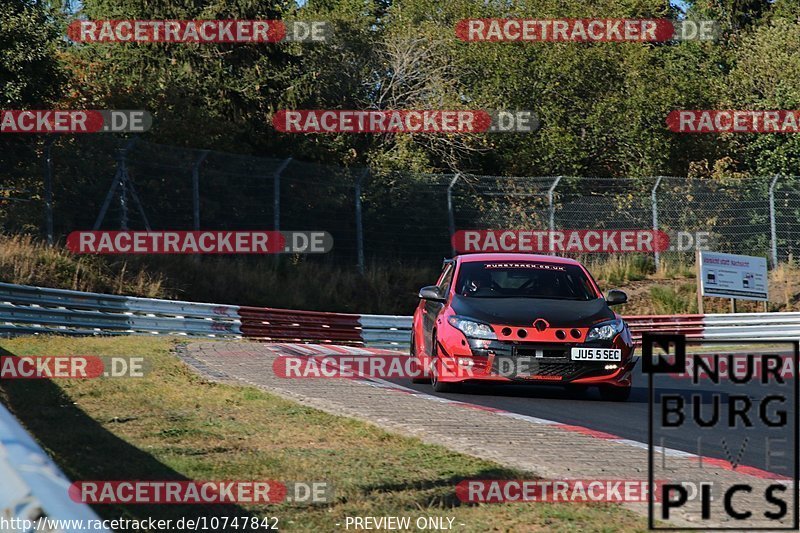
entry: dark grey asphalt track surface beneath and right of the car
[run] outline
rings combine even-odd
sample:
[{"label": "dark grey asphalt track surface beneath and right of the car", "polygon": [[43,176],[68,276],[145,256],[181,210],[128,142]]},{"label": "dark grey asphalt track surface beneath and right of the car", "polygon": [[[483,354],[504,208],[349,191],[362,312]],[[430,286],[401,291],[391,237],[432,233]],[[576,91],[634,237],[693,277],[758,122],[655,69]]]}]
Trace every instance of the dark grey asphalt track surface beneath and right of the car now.
[{"label": "dark grey asphalt track surface beneath and right of the car", "polygon": [[[764,352],[759,352],[764,353]],[[775,353],[770,351],[769,353]],[[557,386],[503,384],[481,385],[465,384],[459,393],[440,394],[433,392],[428,384],[412,384],[408,379],[391,380],[394,383],[419,392],[440,396],[460,402],[502,409],[513,413],[553,420],[563,424],[583,426],[592,430],[610,433],[624,439],[648,443],[648,376],[642,372],[641,361],[637,362],[634,375],[634,389],[627,402],[602,401],[595,388],[584,394],[569,394]],[[795,380],[788,378],[785,383],[774,381],[761,384],[751,382],[744,385],[721,380],[715,384],[703,380],[693,384],[688,378],[654,377],[654,444],[677,449],[705,457],[714,457],[742,465],[756,467],[780,476],[792,477],[797,437],[794,403]],[[687,422],[679,428],[661,427],[661,395],[679,395],[685,398],[687,406],[692,406],[691,395],[701,398],[699,406],[704,417],[711,416],[714,402],[719,401],[720,421],[714,427],[701,427],[694,422],[691,409]],[[772,401],[764,406],[770,422],[777,420],[776,411],[785,410],[787,422],[783,427],[771,427],[760,416],[759,408],[765,396],[779,394],[785,399],[779,403]],[[718,400],[714,397],[717,396]],[[736,420],[736,427],[728,424],[728,411],[734,396],[746,396],[752,402],[748,411],[752,427],[744,427],[742,419]],[[745,442],[746,439],[746,442]],[[768,440],[770,439],[770,440]],[[770,449],[771,457],[767,457]],[[660,457],[656,455],[656,457]]]}]

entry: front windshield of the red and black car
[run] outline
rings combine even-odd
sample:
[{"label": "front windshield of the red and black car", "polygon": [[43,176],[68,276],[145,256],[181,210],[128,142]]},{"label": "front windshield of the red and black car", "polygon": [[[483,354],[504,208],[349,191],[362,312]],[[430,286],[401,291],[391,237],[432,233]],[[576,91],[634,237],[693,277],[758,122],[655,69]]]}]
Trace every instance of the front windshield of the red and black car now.
[{"label": "front windshield of the red and black car", "polygon": [[589,278],[577,265],[541,261],[462,263],[456,294],[469,298],[597,298]]}]

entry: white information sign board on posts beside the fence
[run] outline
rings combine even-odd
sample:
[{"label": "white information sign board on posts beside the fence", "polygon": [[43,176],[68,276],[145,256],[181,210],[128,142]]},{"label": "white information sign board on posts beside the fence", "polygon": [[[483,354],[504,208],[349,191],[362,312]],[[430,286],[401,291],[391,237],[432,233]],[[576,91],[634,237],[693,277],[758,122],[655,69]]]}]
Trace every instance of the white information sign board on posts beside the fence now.
[{"label": "white information sign board on posts beside the fence", "polygon": [[703,296],[766,301],[767,259],[701,251],[700,290]]}]

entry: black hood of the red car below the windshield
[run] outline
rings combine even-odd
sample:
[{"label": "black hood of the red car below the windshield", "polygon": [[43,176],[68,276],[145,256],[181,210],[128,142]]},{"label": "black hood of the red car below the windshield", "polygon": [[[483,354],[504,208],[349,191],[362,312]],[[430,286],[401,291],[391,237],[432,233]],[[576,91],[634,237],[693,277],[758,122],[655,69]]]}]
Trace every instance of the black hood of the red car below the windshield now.
[{"label": "black hood of the red car below the windshield", "polygon": [[489,324],[531,326],[543,318],[551,327],[587,327],[612,320],[614,312],[605,300],[550,300],[544,298],[470,298],[453,296],[450,303],[456,314]]}]

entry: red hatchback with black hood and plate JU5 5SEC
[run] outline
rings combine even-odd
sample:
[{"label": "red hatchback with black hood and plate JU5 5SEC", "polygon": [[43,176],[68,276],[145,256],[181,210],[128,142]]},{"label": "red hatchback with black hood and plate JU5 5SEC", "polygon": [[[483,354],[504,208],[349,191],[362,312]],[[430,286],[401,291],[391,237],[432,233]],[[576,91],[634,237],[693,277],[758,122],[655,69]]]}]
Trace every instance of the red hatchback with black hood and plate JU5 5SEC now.
[{"label": "red hatchback with black hood and plate JU5 5SEC", "polygon": [[586,268],[572,259],[474,254],[446,260],[436,285],[419,291],[411,355],[437,392],[459,383],[528,382],[630,396],[636,365],[628,325]]}]

